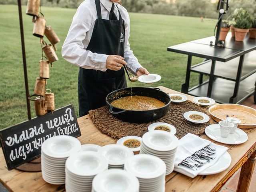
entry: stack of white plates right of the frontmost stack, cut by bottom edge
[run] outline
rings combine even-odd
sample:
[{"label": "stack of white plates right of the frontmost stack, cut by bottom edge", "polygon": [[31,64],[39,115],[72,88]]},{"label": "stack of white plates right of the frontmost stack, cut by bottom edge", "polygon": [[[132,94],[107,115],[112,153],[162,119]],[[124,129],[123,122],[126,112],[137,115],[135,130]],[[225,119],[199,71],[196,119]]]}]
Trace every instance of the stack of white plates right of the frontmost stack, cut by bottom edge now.
[{"label": "stack of white plates right of the frontmost stack, cut by bottom edge", "polygon": [[160,158],[148,154],[135,155],[125,162],[124,170],[138,178],[140,192],[165,191],[166,165]]}]

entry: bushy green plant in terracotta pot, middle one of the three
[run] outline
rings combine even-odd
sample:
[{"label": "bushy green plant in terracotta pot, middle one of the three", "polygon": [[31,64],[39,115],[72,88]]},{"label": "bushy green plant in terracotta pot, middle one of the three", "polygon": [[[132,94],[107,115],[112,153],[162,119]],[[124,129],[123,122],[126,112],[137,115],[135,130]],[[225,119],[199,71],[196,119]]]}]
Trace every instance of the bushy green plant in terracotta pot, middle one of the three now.
[{"label": "bushy green plant in terracotta pot, middle one of the three", "polygon": [[234,24],[235,39],[236,41],[243,41],[249,31],[249,28],[252,26],[252,17],[247,10],[240,8],[234,18],[236,22]]}]

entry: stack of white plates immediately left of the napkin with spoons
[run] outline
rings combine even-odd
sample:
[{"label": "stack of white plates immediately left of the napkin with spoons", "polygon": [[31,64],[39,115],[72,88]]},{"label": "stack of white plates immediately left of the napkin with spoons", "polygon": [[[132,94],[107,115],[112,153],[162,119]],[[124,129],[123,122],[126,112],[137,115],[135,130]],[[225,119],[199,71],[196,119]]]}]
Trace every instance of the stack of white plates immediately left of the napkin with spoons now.
[{"label": "stack of white plates immediately left of the napkin with spoons", "polygon": [[174,170],[178,138],[166,131],[154,130],[142,136],[140,154],[151,154],[161,158],[166,164],[166,175]]}]

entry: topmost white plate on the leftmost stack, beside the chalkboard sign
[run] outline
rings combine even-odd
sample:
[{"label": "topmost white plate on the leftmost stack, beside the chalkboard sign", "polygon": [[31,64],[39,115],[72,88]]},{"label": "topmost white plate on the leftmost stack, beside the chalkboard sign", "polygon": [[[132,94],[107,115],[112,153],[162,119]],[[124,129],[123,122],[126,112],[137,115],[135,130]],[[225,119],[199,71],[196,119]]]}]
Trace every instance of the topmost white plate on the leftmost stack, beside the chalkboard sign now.
[{"label": "topmost white plate on the leftmost stack, beside the chalkboard sign", "polygon": [[80,141],[72,136],[59,135],[43,142],[41,150],[52,158],[66,158],[80,150]]}]

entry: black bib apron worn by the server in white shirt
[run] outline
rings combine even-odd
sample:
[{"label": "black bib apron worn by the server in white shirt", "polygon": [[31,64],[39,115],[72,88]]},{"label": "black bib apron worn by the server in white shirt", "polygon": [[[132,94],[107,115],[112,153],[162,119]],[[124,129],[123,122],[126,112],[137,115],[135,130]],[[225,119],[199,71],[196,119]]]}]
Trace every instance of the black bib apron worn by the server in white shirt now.
[{"label": "black bib apron worn by the server in white shirt", "polygon": [[[125,28],[120,11],[119,20],[114,14],[114,3],[109,15],[109,20],[101,18],[100,0],[95,0],[97,16],[92,38],[86,50],[93,53],[120,55],[124,57]],[[88,114],[91,109],[106,105],[106,96],[117,89],[127,87],[123,67],[113,71],[80,68],[78,73],[78,103],[79,115]]]}]

